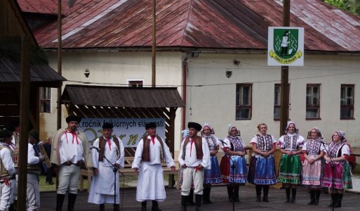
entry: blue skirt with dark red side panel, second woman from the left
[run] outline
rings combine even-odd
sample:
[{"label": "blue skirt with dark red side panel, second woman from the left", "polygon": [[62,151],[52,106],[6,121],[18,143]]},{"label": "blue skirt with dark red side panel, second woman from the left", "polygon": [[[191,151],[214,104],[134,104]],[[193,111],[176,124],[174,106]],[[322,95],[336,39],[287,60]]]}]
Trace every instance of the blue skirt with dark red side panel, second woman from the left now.
[{"label": "blue skirt with dark red side panel, second woman from the left", "polygon": [[229,183],[246,183],[248,181],[248,168],[244,157],[232,155],[231,158],[224,156],[220,162],[220,171],[222,182]]}]

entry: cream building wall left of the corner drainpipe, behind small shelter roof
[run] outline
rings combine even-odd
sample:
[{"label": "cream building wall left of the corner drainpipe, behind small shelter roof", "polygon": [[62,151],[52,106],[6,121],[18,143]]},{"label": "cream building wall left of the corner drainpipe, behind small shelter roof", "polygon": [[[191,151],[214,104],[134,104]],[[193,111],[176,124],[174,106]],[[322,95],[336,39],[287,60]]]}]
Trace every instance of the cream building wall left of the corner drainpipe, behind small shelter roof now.
[{"label": "cream building wall left of the corner drainpipe, behind small shelter roof", "polygon": [[[179,52],[156,53],[156,85],[173,86],[182,83],[182,54]],[[49,53],[49,65],[57,70],[56,53]],[[84,71],[90,70],[89,77]],[[65,52],[62,55],[62,76],[65,84],[98,83],[98,86],[124,86],[127,79],[143,79],[145,86],[152,84],[152,56],[141,52]],[[180,96],[182,89],[178,88]],[[51,89],[51,113],[41,113],[41,139],[53,136],[57,127],[57,89]],[[182,109],[178,108],[175,119],[175,134],[180,134]],[[62,106],[62,127],[67,110]],[[176,146],[180,146],[180,136],[175,135]]]}]

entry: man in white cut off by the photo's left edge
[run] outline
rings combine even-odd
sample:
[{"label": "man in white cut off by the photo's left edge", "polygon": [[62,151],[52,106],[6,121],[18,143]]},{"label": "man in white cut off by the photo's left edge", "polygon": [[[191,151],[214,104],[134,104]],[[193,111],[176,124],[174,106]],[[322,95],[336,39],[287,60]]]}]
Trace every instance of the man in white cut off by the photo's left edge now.
[{"label": "man in white cut off by the photo's left edge", "polygon": [[13,188],[15,170],[11,138],[13,134],[8,129],[0,129],[0,210],[8,210],[13,203]]}]

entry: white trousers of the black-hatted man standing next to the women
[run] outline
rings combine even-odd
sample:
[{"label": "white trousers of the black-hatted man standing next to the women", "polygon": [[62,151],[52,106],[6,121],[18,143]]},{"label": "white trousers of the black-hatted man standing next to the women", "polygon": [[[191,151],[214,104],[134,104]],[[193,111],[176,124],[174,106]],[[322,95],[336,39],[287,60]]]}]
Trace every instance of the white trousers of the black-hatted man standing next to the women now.
[{"label": "white trousers of the black-hatted man standing next to the women", "polygon": [[190,167],[182,169],[182,196],[189,196],[192,181],[194,181],[194,193],[196,195],[203,195],[204,169],[197,171],[195,168]]}]

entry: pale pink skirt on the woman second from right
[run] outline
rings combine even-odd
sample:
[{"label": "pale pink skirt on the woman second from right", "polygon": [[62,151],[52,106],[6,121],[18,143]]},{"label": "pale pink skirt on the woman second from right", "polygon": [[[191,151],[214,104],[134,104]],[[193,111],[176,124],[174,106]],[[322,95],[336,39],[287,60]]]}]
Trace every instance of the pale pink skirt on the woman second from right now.
[{"label": "pale pink skirt on the woman second from right", "polygon": [[[316,158],[317,155],[309,155],[309,158]],[[321,188],[323,175],[322,159],[316,160],[312,164],[307,159],[302,165],[302,184],[310,188]]]}]

